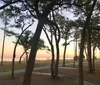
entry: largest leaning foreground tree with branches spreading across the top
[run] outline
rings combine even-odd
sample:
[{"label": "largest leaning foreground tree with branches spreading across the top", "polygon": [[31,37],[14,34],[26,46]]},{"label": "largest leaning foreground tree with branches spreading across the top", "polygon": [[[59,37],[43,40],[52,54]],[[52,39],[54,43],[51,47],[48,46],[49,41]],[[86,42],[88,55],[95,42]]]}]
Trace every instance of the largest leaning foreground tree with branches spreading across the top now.
[{"label": "largest leaning foreground tree with branches spreading across the top", "polygon": [[23,0],[14,0],[14,1],[13,0],[10,0],[10,1],[2,0],[2,2],[4,2],[4,4],[0,7],[0,9],[3,9],[17,2],[22,2],[24,7],[31,13],[31,15],[38,19],[38,25],[37,25],[34,37],[32,38],[32,47],[31,47],[31,51],[29,55],[29,60],[26,65],[23,85],[30,85],[39,38],[40,38],[44,24],[47,24],[49,22],[48,15],[50,14],[50,12],[52,10],[53,11],[56,10],[59,7],[66,8],[66,7],[70,7],[71,5],[83,6],[83,5],[90,3],[89,1],[88,3],[79,4],[79,3],[73,2],[73,0],[68,0],[68,1],[66,0],[63,0],[63,1],[61,0],[45,0],[45,1],[43,0],[34,0],[34,1],[31,1],[31,0],[29,1],[28,0],[25,0],[25,1]]}]

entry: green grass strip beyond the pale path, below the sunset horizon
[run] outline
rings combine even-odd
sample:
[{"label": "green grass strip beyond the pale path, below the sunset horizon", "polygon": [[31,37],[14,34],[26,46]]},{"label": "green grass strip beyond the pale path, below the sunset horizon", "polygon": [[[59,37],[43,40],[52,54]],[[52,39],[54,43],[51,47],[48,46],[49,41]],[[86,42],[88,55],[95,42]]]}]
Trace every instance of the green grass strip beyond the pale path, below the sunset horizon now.
[{"label": "green grass strip beyond the pale path, below the sunset horizon", "polygon": [[[68,63],[70,62],[71,60],[68,61]],[[50,60],[36,60],[35,67],[47,66],[50,65],[50,63],[51,63]],[[60,64],[62,64],[62,60],[60,60]],[[22,62],[21,64],[19,64],[17,61],[15,62],[15,70],[25,69],[25,67],[26,67],[26,62]],[[0,72],[11,71],[11,68],[12,68],[11,62],[5,61],[4,64],[0,66]]]}]

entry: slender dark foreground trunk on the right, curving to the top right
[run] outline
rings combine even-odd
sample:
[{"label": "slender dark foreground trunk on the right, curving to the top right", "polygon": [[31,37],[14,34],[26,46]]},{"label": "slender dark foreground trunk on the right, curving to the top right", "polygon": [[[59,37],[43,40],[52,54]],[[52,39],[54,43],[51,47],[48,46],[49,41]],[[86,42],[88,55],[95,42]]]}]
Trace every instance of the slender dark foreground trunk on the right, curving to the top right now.
[{"label": "slender dark foreground trunk on the right, curving to the top right", "polygon": [[89,27],[91,15],[93,12],[93,9],[95,7],[97,0],[94,0],[93,5],[91,7],[91,10],[86,18],[86,22],[84,24],[82,34],[81,34],[81,46],[80,46],[80,54],[79,54],[79,85],[84,85],[83,81],[83,51],[84,51],[84,41],[85,41],[85,36],[86,36],[86,29]]}]

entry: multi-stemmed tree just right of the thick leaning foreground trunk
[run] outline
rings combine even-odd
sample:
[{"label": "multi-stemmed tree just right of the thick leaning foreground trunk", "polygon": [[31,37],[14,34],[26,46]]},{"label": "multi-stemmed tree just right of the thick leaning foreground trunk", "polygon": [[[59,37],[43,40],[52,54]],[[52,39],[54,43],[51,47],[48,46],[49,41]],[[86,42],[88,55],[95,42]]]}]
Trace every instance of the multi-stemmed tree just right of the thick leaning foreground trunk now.
[{"label": "multi-stemmed tree just right of the thick leaning foreground trunk", "polygon": [[[51,60],[51,78],[58,78],[58,66],[59,66],[59,41],[60,41],[60,30],[58,27],[58,23],[56,23],[55,15],[52,12],[52,18],[50,22],[52,23],[49,27],[49,32],[51,33],[51,40],[48,36],[48,33],[46,32],[46,28],[44,28],[44,32],[46,34],[46,37],[49,41],[49,44],[51,46],[51,52],[52,52],[52,60]],[[55,52],[54,52],[54,45],[53,45],[53,36],[55,39],[56,44],[56,59],[54,58]]]}]

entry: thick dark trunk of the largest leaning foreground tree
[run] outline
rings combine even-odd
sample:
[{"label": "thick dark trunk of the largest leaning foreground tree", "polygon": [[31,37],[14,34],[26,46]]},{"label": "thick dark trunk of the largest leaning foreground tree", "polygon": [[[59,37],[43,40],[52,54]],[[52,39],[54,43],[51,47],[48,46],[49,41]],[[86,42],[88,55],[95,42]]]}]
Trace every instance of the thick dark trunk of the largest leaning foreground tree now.
[{"label": "thick dark trunk of the largest leaning foreground tree", "polygon": [[[58,0],[51,0],[51,3],[49,3],[46,6],[44,12],[41,14],[41,16],[39,16],[40,19],[38,20],[38,26],[37,26],[36,32],[34,34],[32,47],[31,47],[31,51],[30,51],[30,55],[29,55],[29,60],[28,60],[27,65],[26,65],[23,85],[30,85],[31,84],[31,76],[32,76],[33,68],[34,68],[37,47],[38,47],[38,41],[40,38],[40,34],[42,32],[43,25],[44,25],[44,23],[46,23],[46,22],[44,22],[44,20],[47,19],[48,14],[51,12],[51,10],[53,9],[53,7],[57,1]],[[36,4],[38,4],[38,3],[36,3]],[[36,9],[37,8],[38,7],[36,7]]]}]

